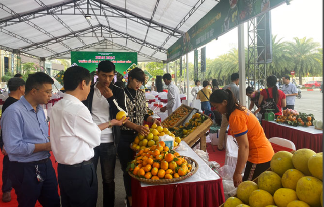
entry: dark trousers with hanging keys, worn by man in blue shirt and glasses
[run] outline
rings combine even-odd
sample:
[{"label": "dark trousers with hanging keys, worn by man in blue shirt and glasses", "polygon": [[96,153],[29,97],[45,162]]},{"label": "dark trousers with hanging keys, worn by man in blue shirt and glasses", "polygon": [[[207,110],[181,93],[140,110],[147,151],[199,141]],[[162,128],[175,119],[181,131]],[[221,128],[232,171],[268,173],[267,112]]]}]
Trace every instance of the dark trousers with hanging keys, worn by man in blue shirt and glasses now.
[{"label": "dark trousers with hanging keys, worn by man in blue shirt and glasses", "polygon": [[[36,166],[43,178],[38,182]],[[57,180],[52,162],[42,164],[10,162],[10,180],[17,194],[18,206],[35,206],[38,200],[42,206],[60,206]]]}]

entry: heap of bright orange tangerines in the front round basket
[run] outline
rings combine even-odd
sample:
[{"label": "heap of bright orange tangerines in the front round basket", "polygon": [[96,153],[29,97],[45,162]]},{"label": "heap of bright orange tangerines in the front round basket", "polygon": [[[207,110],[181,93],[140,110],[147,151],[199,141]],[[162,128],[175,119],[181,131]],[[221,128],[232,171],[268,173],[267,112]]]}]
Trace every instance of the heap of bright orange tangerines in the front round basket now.
[{"label": "heap of bright orange tangerines in the front round basket", "polygon": [[169,151],[165,143],[160,141],[158,145],[139,151],[128,168],[140,178],[159,180],[184,176],[191,172],[192,165],[178,152]]}]

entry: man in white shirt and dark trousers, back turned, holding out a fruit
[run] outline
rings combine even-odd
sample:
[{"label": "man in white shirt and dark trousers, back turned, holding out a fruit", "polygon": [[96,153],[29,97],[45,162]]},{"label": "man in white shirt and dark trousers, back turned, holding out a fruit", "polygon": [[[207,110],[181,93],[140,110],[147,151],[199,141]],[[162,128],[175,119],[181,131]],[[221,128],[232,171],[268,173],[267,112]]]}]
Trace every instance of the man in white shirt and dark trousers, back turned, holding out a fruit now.
[{"label": "man in white shirt and dark trousers, back turned, holding out a fruit", "polygon": [[98,182],[92,163],[94,147],[100,145],[101,130],[121,125],[111,120],[93,122],[87,99],[91,75],[83,67],[73,66],[64,73],[64,98],[52,108],[51,147],[58,164],[58,182],[62,206],[96,206]]}]

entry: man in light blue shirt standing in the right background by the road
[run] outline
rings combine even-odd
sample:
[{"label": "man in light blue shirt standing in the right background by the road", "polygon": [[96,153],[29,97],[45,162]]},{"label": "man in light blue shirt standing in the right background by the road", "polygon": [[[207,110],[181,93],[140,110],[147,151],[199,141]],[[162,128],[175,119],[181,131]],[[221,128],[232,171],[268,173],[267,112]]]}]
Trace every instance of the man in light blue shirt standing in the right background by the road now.
[{"label": "man in light blue shirt standing in the right background by the road", "polygon": [[290,82],[290,77],[288,75],[285,75],[284,77],[282,77],[282,82],[284,82],[284,86],[282,86],[282,91],[285,93],[286,95],[286,107],[285,109],[293,109],[295,108],[295,99],[296,96],[298,95],[298,91],[297,91],[297,87],[295,84],[292,84]]}]

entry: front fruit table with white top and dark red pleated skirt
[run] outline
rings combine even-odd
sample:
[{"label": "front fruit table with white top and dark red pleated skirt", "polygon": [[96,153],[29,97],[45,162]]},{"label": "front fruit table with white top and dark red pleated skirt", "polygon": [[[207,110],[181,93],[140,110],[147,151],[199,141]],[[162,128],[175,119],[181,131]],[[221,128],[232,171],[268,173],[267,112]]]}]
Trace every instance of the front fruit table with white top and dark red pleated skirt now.
[{"label": "front fruit table with white top and dark red pleated skirt", "polygon": [[198,171],[188,179],[168,185],[149,185],[132,178],[134,207],[220,206],[224,201],[222,179],[186,144],[176,150],[199,164]]}]

